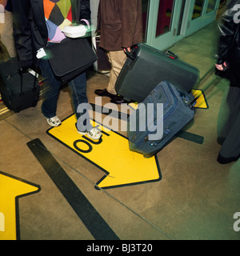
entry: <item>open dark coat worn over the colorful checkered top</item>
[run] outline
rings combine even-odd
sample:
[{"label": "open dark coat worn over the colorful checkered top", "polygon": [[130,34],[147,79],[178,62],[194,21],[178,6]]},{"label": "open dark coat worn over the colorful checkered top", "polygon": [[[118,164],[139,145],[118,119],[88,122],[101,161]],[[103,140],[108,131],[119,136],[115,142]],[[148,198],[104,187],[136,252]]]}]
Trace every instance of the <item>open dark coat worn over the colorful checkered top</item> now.
[{"label": "open dark coat worn over the colorful checkered top", "polygon": [[[12,0],[12,8],[18,58],[36,62],[37,50],[46,46],[48,39],[43,0]],[[90,21],[90,0],[81,1],[80,18]]]}]

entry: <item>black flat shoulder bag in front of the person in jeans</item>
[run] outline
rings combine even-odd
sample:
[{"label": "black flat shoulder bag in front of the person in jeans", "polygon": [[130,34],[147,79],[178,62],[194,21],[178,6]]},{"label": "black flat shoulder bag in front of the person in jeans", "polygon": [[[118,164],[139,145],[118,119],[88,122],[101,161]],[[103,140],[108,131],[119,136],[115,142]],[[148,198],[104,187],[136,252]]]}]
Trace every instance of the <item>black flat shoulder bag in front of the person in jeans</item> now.
[{"label": "black flat shoulder bag in front of the person in jeans", "polygon": [[87,38],[65,38],[46,47],[46,54],[54,74],[62,82],[75,78],[97,60]]}]

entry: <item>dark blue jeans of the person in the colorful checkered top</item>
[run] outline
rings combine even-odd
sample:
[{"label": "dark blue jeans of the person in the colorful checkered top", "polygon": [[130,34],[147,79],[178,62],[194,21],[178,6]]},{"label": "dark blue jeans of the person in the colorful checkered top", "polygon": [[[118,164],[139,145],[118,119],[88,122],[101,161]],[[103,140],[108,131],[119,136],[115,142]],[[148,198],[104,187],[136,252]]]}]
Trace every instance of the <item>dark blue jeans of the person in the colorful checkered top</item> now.
[{"label": "dark blue jeans of the person in the colorful checkered top", "polygon": [[[50,66],[50,62],[46,58],[41,59],[39,67],[42,71],[42,78],[47,86],[42,102],[42,114],[46,118],[53,118],[57,112],[58,94],[62,82],[54,75],[54,72]],[[82,110],[82,113],[78,112],[79,104],[88,102],[86,97],[86,72],[79,74],[78,77],[68,82],[68,85],[70,86],[71,90],[74,113],[78,120],[76,125],[78,130],[91,130],[92,126],[90,125],[88,110],[85,108]],[[83,117],[83,115],[84,120],[79,122],[80,117]]]}]

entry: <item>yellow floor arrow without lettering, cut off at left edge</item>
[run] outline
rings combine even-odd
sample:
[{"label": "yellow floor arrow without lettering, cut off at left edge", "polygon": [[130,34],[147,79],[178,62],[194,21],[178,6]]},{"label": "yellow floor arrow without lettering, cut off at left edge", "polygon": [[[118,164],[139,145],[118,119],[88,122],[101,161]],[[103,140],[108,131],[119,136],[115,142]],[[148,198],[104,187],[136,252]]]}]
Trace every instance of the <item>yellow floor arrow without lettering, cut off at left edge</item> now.
[{"label": "yellow floor arrow without lettering, cut off at left edge", "polygon": [[37,185],[0,171],[0,240],[17,239],[17,199],[39,190]]}]

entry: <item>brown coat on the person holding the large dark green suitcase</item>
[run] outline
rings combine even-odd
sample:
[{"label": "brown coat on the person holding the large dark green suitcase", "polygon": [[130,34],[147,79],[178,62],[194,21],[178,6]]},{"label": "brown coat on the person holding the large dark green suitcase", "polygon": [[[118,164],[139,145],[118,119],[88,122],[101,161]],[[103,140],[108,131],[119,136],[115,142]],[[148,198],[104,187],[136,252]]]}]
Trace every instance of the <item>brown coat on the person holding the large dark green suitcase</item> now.
[{"label": "brown coat on the person holding the large dark green suitcase", "polygon": [[141,0],[100,0],[98,8],[100,47],[122,50],[142,42]]}]

